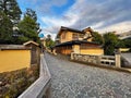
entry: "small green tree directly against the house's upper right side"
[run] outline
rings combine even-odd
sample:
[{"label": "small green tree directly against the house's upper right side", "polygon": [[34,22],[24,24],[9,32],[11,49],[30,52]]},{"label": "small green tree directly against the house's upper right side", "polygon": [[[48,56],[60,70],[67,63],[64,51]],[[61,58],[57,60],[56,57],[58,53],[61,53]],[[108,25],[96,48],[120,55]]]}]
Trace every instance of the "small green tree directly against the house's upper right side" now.
[{"label": "small green tree directly against the house's upper right side", "polygon": [[98,32],[94,32],[93,33],[93,41],[103,45],[104,44],[103,36],[100,34],[98,34]]}]

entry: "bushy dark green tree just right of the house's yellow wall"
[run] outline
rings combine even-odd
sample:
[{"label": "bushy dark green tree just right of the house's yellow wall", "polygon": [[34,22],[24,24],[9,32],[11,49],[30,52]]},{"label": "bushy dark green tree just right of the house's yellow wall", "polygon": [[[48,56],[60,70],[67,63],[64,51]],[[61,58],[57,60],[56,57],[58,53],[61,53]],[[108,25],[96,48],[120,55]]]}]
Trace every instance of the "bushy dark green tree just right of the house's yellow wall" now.
[{"label": "bushy dark green tree just right of the house's yellow wall", "polygon": [[114,54],[118,37],[114,33],[104,34],[104,50],[105,54]]}]

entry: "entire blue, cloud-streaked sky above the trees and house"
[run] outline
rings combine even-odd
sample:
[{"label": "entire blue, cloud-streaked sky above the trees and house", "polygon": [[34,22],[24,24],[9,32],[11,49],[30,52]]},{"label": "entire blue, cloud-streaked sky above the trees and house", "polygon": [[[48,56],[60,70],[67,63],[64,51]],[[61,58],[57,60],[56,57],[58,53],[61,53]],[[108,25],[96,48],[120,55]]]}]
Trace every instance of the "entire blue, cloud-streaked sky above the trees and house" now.
[{"label": "entire blue, cloud-streaked sky above the trees and house", "polygon": [[131,30],[131,0],[17,0],[22,12],[36,11],[45,35],[60,26],[92,27],[99,33]]}]

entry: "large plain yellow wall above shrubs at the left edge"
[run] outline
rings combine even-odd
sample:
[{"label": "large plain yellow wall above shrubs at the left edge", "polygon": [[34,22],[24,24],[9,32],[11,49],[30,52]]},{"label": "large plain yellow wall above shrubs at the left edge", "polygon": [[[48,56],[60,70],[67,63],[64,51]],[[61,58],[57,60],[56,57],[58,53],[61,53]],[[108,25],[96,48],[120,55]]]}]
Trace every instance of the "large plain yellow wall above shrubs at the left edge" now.
[{"label": "large plain yellow wall above shrubs at the left edge", "polygon": [[29,50],[0,50],[0,73],[31,65]]}]

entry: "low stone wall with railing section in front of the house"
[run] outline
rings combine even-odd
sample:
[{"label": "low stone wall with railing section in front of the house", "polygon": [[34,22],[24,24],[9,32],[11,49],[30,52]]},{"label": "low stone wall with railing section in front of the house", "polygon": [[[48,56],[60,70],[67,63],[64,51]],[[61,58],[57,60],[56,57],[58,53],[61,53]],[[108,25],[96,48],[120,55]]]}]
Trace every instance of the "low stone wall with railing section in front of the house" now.
[{"label": "low stone wall with railing section in front of the house", "polygon": [[[80,61],[84,63],[92,63],[98,65],[111,65],[116,66],[116,57],[114,56],[92,56],[92,54],[80,54],[71,53],[71,60]],[[117,60],[118,62],[119,60]]]}]

